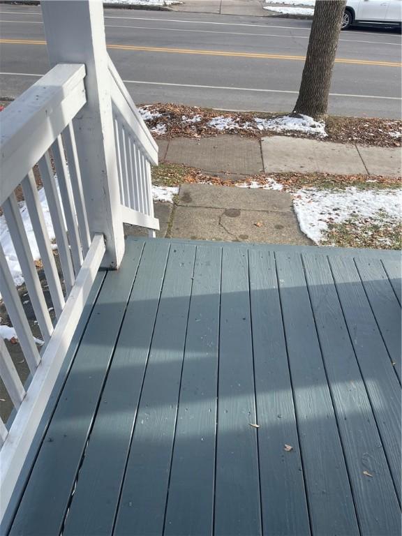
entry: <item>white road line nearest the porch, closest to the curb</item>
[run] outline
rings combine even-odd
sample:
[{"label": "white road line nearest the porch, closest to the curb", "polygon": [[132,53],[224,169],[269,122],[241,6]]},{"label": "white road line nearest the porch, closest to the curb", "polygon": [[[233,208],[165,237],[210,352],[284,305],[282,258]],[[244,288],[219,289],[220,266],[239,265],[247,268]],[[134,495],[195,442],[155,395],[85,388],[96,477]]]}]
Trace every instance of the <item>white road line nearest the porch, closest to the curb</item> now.
[{"label": "white road line nearest the porch, closest to the curb", "polygon": [[[38,75],[36,73],[6,73],[1,72],[0,75],[4,76],[27,76],[40,78],[43,75]],[[284,93],[297,95],[299,91],[291,91],[288,89],[258,89],[253,87],[228,87],[228,86],[204,86],[197,84],[173,84],[172,82],[147,82],[145,80],[123,80],[125,84],[142,84],[142,85],[151,85],[151,86],[168,86],[168,87],[193,87],[196,89],[223,89],[225,91],[255,91],[257,93]],[[379,98],[384,101],[402,101],[401,97],[384,97],[379,95],[355,95],[348,93],[330,93],[332,97],[352,97],[352,98]]]}]

